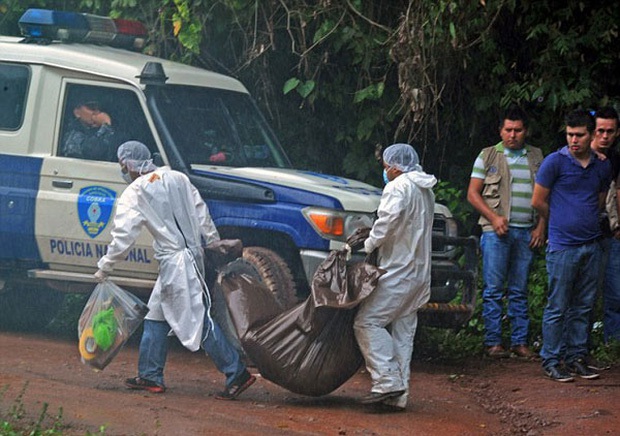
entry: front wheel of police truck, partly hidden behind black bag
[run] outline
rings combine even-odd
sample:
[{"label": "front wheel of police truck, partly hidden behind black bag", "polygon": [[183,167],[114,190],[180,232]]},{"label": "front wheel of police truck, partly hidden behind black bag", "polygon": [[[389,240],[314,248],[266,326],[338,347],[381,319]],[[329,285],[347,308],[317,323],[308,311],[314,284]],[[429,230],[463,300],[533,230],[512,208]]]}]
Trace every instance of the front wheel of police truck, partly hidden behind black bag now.
[{"label": "front wheel of police truck, partly hidden behind black bag", "polygon": [[291,270],[276,252],[264,247],[245,247],[243,259],[256,270],[283,310],[290,309],[297,303]]}]

